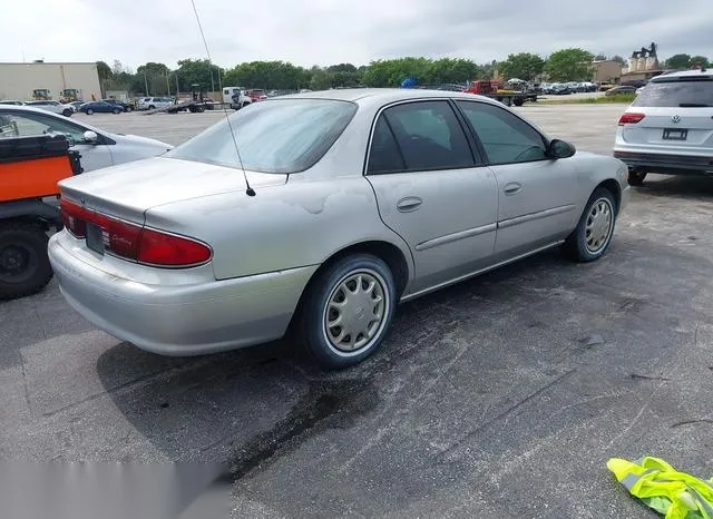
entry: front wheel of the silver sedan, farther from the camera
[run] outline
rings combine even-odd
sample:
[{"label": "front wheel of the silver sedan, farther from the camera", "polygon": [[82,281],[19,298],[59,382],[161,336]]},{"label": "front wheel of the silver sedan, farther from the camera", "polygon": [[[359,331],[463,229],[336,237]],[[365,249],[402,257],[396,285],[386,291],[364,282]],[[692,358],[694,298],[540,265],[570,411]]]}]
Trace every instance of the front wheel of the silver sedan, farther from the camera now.
[{"label": "front wheel of the silver sedan, farther from the camera", "polygon": [[594,262],[609,248],[616,224],[616,202],[611,190],[597,187],[579,218],[577,228],[567,237],[565,252],[576,262]]}]

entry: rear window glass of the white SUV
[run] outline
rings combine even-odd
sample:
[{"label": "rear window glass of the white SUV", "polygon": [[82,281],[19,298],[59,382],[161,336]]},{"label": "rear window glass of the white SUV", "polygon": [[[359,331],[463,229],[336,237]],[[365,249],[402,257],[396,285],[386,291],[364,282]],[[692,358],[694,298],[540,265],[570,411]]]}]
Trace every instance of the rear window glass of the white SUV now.
[{"label": "rear window glass of the white SUV", "polygon": [[641,107],[713,107],[713,80],[652,81],[634,100]]}]

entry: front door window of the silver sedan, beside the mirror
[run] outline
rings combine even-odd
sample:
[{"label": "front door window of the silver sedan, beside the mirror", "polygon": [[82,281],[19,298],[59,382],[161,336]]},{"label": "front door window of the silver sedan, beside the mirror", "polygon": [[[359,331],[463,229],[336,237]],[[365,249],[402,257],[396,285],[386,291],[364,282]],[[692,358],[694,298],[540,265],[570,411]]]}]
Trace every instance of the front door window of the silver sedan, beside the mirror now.
[{"label": "front door window of the silver sedan, beside the mirror", "polygon": [[543,136],[527,123],[495,105],[457,101],[485,148],[490,164],[544,160]]}]

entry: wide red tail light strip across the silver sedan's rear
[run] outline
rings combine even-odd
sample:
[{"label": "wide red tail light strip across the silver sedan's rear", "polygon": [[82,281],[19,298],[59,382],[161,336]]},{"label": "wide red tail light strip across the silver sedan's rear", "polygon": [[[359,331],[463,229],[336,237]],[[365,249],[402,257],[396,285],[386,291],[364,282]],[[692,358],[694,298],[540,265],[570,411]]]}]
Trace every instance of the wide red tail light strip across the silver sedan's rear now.
[{"label": "wide red tail light strip across the silver sedan's rear", "polygon": [[211,260],[211,248],[195,239],[146,228],[86,209],[62,198],[65,227],[77,238],[87,236],[87,224],[101,229],[106,252],[154,266],[189,267]]}]

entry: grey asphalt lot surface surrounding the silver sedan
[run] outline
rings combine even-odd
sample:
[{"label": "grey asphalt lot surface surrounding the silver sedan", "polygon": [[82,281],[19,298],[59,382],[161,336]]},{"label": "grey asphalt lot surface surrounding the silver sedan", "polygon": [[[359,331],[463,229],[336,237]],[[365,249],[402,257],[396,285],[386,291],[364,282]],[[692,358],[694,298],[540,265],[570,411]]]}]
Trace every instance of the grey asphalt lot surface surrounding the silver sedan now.
[{"label": "grey asphalt lot surface surrounding the silver sedan", "polygon": [[[519,110],[609,154],[622,109]],[[170,144],[219,117],[75,116]],[[600,261],[553,251],[404,304],[339,373],[289,340],[145,353],[52,282],[0,303],[0,459],[226,462],[234,517],[656,517],[606,461],[713,476],[712,222],[713,179],[654,176]]]}]

